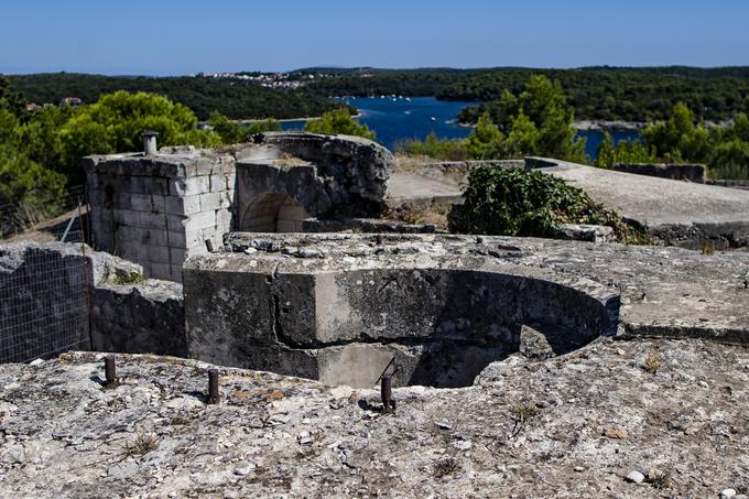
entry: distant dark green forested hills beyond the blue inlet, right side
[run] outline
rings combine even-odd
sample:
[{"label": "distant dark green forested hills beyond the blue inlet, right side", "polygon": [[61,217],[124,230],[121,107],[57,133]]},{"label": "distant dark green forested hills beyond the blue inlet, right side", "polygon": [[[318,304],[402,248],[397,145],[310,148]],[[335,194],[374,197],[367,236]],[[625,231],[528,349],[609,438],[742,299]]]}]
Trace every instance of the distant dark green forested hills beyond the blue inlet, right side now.
[{"label": "distant dark green forested hills beyond the blue inlet, right side", "polygon": [[338,69],[335,77],[307,88],[325,96],[430,95],[479,101],[480,107],[460,115],[462,121],[475,123],[485,112],[496,115],[504,93],[519,94],[532,75],[558,82],[577,119],[587,120],[667,119],[684,102],[699,120],[723,121],[743,111],[749,97],[749,67]]}]

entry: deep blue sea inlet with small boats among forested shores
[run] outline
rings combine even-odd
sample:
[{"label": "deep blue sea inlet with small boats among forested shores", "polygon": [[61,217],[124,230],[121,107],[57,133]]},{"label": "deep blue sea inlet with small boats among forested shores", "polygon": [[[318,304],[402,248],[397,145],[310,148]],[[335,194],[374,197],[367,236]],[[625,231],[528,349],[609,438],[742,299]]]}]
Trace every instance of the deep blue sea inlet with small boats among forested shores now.
[{"label": "deep blue sea inlet with small boats among forested shores", "polygon": [[[339,100],[359,109],[358,121],[373,130],[376,140],[391,151],[397,149],[399,142],[424,139],[431,132],[446,139],[467,137],[470,128],[459,126],[457,115],[463,108],[478,104],[403,96],[343,97]],[[301,130],[304,121],[284,121],[282,126],[284,130]],[[615,143],[638,140],[640,137],[637,131],[616,131],[611,135]],[[580,130],[578,137],[586,139],[585,151],[590,159],[595,159],[604,133]]]}]

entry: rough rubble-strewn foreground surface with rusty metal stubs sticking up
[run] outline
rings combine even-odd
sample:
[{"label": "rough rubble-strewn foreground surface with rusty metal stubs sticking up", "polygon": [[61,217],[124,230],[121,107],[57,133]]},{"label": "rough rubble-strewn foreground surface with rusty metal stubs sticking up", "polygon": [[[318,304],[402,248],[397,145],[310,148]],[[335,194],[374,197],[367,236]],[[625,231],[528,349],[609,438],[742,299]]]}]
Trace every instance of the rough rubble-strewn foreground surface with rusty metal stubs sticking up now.
[{"label": "rough rubble-strewn foreground surface with rusty metal stubs sticking up", "polygon": [[206,405],[208,365],[117,359],[116,388],[99,354],[0,366],[3,497],[749,492],[746,347],[606,338],[513,356],[471,388],[397,389],[395,414],[374,390],[224,368]]}]

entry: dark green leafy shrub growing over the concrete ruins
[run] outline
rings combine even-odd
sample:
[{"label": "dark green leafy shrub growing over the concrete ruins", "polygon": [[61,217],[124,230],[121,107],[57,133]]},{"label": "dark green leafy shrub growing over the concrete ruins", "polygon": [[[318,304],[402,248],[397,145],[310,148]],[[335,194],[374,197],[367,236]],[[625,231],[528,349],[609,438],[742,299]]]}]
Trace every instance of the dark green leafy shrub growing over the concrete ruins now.
[{"label": "dark green leafy shrub growing over the concrete ruins", "polygon": [[475,169],[464,204],[449,215],[454,232],[554,237],[563,224],[609,226],[618,240],[644,242],[644,232],[582,189],[536,170]]}]

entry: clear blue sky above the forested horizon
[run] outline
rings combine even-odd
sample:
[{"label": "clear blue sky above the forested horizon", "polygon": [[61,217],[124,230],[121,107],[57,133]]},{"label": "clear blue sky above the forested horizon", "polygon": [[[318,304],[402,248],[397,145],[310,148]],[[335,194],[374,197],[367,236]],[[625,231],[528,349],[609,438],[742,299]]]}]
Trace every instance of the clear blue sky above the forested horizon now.
[{"label": "clear blue sky above the forested horizon", "polygon": [[749,0],[2,0],[0,6],[0,73],[603,64],[749,65]]}]

